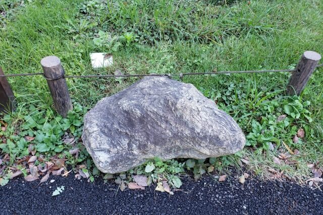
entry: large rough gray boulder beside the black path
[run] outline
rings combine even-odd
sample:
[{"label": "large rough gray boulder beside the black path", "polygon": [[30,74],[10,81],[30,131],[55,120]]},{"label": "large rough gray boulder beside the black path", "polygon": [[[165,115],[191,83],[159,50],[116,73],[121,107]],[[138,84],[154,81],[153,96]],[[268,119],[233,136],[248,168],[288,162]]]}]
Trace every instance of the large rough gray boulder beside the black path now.
[{"label": "large rough gray boulder beside the black path", "polygon": [[192,84],[146,77],[100,100],[84,117],[83,144],[103,173],[146,159],[202,159],[242,149],[237,123]]}]

